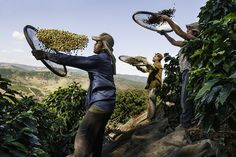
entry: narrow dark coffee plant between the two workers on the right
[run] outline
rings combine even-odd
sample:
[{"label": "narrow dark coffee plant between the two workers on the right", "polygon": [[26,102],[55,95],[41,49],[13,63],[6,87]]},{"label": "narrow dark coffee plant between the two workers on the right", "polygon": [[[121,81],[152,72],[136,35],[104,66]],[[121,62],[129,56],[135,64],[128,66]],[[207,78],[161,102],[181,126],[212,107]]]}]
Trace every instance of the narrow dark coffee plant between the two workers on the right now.
[{"label": "narrow dark coffee plant between the two workers on the right", "polygon": [[[181,75],[178,56],[174,57],[165,53],[164,61],[165,78],[159,93],[159,103],[164,109],[165,117],[168,118],[170,126],[174,128],[179,124],[179,116],[181,114]],[[174,103],[174,105],[167,106],[166,102]]]}]

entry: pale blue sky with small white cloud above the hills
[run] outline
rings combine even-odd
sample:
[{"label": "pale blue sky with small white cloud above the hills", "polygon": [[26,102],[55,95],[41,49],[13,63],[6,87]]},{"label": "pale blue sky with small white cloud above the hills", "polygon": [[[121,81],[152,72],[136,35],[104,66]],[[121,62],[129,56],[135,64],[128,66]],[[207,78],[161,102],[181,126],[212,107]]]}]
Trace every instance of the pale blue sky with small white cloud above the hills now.
[{"label": "pale blue sky with small white cloud above the hills", "polygon": [[[66,30],[89,37],[88,47],[80,55],[93,53],[92,35],[107,32],[114,37],[114,54],[145,56],[152,61],[155,52],[176,55],[179,48],[156,32],[140,27],[132,20],[136,11],[160,11],[175,7],[174,21],[185,24],[198,20],[207,0],[0,0],[0,62],[43,66],[31,55],[23,36],[23,27]],[[178,38],[174,33],[171,36]],[[162,61],[164,64],[164,61]],[[117,73],[147,76],[117,59]]]}]

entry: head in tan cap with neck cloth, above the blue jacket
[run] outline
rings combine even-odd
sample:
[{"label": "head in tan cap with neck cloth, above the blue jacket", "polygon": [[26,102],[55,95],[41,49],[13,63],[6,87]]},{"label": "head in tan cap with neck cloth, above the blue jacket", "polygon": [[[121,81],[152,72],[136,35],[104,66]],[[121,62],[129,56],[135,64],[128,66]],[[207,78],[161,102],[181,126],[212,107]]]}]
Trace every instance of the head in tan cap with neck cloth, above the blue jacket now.
[{"label": "head in tan cap with neck cloth, above the blue jacket", "polygon": [[98,54],[101,50],[106,50],[108,53],[113,52],[114,39],[110,34],[102,33],[99,36],[92,36],[92,39],[96,41],[94,53]]}]

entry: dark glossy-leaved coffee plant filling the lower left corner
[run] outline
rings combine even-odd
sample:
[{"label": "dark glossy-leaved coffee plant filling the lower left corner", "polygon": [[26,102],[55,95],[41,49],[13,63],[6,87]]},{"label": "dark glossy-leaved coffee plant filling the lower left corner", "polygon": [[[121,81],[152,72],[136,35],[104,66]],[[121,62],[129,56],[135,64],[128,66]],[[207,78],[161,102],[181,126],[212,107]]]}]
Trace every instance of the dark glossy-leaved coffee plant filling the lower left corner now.
[{"label": "dark glossy-leaved coffee plant filling the lower left corner", "polygon": [[31,109],[37,104],[31,97],[16,96],[22,97],[0,75],[0,150],[16,157],[47,157]]}]

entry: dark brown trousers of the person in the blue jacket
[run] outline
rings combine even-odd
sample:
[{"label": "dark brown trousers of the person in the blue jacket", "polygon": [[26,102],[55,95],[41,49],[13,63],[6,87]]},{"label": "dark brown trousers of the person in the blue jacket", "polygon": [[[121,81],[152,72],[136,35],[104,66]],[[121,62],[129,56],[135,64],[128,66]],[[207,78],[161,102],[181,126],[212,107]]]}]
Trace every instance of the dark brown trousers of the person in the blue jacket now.
[{"label": "dark brown trousers of the person in the blue jacket", "polygon": [[101,157],[103,136],[111,113],[87,111],[75,137],[75,157]]}]

